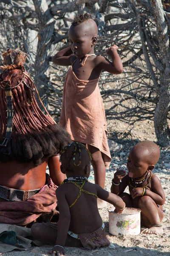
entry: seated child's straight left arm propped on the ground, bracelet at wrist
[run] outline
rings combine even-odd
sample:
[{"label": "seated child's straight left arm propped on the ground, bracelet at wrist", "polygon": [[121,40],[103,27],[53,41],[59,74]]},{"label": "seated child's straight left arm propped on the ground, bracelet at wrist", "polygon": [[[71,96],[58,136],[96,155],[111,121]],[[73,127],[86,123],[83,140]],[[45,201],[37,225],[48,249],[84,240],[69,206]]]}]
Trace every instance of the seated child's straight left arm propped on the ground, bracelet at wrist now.
[{"label": "seated child's straight left arm propped on the ground, bracelet at wrist", "polygon": [[[59,221],[58,221],[58,232],[56,245],[53,247],[52,251],[59,251],[65,255],[64,245],[68,234],[68,229],[70,226],[71,215],[68,202],[65,198],[65,192],[63,186],[56,189],[56,196],[59,206]],[[59,246],[57,246],[59,245]]]}]

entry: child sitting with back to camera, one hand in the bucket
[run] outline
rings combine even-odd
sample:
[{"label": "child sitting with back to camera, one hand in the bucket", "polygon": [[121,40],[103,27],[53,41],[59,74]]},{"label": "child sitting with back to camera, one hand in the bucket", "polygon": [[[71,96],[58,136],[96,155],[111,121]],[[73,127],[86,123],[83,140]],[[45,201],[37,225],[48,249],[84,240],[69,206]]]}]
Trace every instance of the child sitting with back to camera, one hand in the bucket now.
[{"label": "child sitting with back to camera, one hand in the bucket", "polygon": [[125,209],[122,198],[88,182],[91,153],[85,145],[73,142],[61,151],[61,171],[67,175],[56,190],[59,206],[57,224],[36,223],[31,228],[34,239],[55,244],[52,252],[65,255],[64,246],[108,246],[105,225],[97,208],[97,197],[113,204],[117,212]]}]

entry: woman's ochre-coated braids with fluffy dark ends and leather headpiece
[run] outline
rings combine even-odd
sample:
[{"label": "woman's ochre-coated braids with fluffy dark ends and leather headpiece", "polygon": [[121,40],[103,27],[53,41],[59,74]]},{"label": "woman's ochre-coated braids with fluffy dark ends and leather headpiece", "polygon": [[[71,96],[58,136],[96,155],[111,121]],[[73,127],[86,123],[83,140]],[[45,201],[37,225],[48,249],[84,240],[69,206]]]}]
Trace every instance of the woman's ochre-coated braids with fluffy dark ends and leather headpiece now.
[{"label": "woman's ochre-coated braids with fluffy dark ends and leather headpiece", "polygon": [[[23,64],[27,54],[8,49],[0,67],[0,161],[41,163],[59,153],[70,136],[37,104],[37,90]],[[46,111],[46,109],[45,109]],[[46,111],[46,113],[48,113]]]}]

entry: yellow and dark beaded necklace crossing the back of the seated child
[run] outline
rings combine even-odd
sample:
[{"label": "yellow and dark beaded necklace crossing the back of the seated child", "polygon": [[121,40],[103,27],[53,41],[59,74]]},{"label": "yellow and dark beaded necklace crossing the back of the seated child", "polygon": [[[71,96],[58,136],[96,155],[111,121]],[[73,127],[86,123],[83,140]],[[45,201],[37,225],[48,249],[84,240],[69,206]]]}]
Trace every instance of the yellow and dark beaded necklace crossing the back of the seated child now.
[{"label": "yellow and dark beaded necklace crossing the back of the seated child", "polygon": [[[77,186],[79,188],[79,194],[77,195],[76,200],[74,201],[73,204],[69,205],[69,208],[71,208],[72,206],[74,206],[74,204],[76,204],[77,200],[79,199],[81,192],[84,192],[85,194],[88,195],[94,195],[96,198],[98,197],[97,195],[95,195],[94,193],[91,193],[89,191],[86,191],[84,189],[82,189],[82,187],[84,186],[85,182],[88,182],[87,177],[69,177],[68,179],[65,179],[61,185],[65,184],[65,183],[72,183],[75,186]],[[82,184],[82,185],[78,185],[78,184]]]}]

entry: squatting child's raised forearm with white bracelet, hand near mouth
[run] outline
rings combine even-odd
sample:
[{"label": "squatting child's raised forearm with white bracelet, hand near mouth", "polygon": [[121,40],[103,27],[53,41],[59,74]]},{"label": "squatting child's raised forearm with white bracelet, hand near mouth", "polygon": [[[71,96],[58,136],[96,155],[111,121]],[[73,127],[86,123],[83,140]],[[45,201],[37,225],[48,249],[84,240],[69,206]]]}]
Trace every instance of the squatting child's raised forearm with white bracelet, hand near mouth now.
[{"label": "squatting child's raised forearm with white bracelet, hand near mouth", "polygon": [[111,193],[119,195],[124,192],[128,185],[126,175],[127,173],[125,170],[117,168],[112,180]]}]

